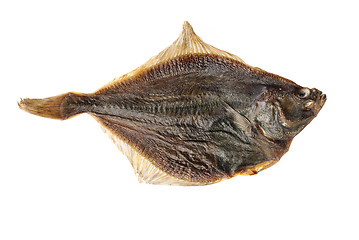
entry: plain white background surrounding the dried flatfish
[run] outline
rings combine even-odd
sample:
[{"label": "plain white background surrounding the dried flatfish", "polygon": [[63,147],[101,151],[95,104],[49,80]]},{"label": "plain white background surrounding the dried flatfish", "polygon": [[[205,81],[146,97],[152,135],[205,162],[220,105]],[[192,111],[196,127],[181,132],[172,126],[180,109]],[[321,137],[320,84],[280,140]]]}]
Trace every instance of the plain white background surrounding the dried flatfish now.
[{"label": "plain white background surrounding the dried flatfish", "polygon": [[[328,100],[275,166],[205,187],[139,184],[88,115],[20,97],[92,92],[207,43]],[[0,239],[359,239],[356,1],[1,1]]]}]

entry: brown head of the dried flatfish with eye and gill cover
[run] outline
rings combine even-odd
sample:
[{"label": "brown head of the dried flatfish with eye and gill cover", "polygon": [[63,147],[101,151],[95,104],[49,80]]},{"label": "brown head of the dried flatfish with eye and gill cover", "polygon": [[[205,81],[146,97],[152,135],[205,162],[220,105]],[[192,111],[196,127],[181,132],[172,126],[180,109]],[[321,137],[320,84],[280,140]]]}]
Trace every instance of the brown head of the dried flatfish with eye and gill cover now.
[{"label": "brown head of the dried flatfish with eye and gill cover", "polygon": [[256,104],[253,120],[264,136],[289,140],[304,129],[322,109],[326,95],[316,88],[290,85],[269,88]]}]

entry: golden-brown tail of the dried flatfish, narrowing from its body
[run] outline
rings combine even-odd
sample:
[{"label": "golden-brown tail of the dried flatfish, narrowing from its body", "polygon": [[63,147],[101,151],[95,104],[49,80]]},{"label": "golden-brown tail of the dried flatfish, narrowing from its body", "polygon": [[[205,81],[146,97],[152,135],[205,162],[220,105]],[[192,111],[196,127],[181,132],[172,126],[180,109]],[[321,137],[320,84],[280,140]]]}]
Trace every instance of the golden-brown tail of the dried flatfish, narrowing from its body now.
[{"label": "golden-brown tail of the dried flatfish, narrowing from its body", "polygon": [[84,94],[65,93],[54,97],[42,99],[21,99],[19,108],[40,117],[65,120],[85,112],[81,105]]}]

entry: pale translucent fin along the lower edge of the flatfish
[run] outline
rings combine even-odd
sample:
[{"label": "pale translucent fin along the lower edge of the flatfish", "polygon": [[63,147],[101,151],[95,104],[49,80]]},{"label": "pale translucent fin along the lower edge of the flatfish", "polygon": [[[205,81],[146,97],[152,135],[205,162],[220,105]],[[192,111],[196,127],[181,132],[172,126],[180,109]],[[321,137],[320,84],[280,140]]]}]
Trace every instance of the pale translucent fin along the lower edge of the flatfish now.
[{"label": "pale translucent fin along the lower edge of the flatfish", "polygon": [[175,186],[203,186],[213,184],[214,182],[190,182],[173,177],[158,167],[156,167],[150,160],[143,156],[140,151],[132,147],[126,141],[116,136],[110,129],[104,126],[100,120],[93,116],[97,122],[100,123],[102,130],[110,137],[110,139],[116,144],[118,149],[127,157],[130,161],[135,174],[138,177],[140,183],[148,183],[154,185],[175,185]]}]

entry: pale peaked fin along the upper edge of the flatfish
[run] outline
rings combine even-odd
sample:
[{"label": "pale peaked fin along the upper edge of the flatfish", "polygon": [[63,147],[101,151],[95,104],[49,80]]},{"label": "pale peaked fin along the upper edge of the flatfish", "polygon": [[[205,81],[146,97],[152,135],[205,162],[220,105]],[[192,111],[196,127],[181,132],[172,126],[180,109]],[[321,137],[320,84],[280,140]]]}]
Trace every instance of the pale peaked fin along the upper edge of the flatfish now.
[{"label": "pale peaked fin along the upper edge of the flatfish", "polygon": [[210,54],[222,56],[245,64],[245,62],[236,55],[230,54],[205,43],[199,36],[195,34],[189,22],[185,21],[180,36],[169,47],[161,51],[158,55],[150,58],[146,63],[142,64],[135,70],[121,77],[115,78],[113,81],[103,86],[100,90],[113,87],[116,83],[129,80],[159,63],[166,62],[176,57],[191,54]]}]

